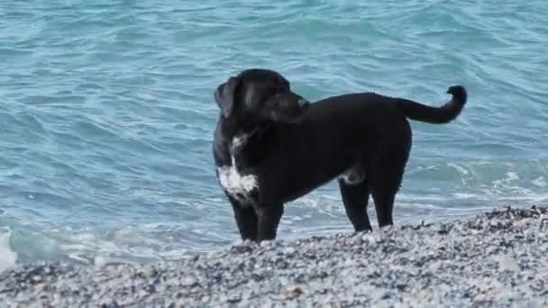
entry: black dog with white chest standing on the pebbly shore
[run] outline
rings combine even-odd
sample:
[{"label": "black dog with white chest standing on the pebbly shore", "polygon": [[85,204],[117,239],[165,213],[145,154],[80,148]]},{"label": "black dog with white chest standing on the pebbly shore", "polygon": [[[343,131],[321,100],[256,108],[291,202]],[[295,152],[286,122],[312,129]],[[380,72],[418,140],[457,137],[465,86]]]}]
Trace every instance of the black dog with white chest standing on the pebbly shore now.
[{"label": "black dog with white chest standing on the pebbly shore", "polygon": [[374,93],[329,97],[314,104],[267,69],[244,70],[217,87],[217,178],[242,240],[274,240],[283,205],[339,177],[355,231],[371,230],[373,196],[379,226],[392,224],[394,197],[412,143],[407,119],[446,123],[461,113],[467,94],[431,107]]}]

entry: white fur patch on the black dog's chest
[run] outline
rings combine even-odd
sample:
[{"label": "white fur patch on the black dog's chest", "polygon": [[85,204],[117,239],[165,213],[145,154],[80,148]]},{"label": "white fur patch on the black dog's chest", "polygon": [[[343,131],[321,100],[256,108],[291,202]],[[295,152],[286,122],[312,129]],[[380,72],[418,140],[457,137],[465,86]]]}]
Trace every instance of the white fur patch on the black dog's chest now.
[{"label": "white fur patch on the black dog's chest", "polygon": [[[233,149],[242,145],[245,137],[233,138]],[[242,175],[236,168],[236,161],[231,154],[232,166],[223,166],[217,168],[219,172],[219,182],[226,192],[233,198],[242,202],[242,206],[250,205],[249,197],[253,189],[258,187],[258,179],[255,175]]]}]

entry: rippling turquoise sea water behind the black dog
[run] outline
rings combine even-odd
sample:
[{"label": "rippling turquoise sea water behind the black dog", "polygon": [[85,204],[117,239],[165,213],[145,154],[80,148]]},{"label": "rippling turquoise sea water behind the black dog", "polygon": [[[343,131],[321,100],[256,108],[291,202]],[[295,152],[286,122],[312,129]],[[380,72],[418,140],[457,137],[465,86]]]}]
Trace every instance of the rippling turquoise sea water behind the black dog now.
[{"label": "rippling turquoise sea water behind the black dog", "polygon": [[[309,100],[438,105],[469,89],[456,122],[412,123],[397,223],[548,199],[548,2],[197,3],[0,2],[0,266],[178,259],[238,240],[215,180],[213,91],[251,67]],[[288,204],[279,234],[336,231],[351,228],[331,183]]]}]

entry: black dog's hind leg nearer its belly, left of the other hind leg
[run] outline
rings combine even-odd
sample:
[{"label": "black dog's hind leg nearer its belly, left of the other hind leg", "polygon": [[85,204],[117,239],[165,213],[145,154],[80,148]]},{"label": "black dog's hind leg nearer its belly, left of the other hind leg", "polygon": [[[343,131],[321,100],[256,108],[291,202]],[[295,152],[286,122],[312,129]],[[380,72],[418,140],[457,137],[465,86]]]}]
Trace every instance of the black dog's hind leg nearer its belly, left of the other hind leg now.
[{"label": "black dog's hind leg nearer its belly, left of the other hind leg", "polygon": [[339,178],[342,204],[346,216],[352,222],[354,231],[370,231],[370,218],[367,214],[367,204],[370,198],[370,189],[365,178],[360,183],[348,183],[345,178]]}]

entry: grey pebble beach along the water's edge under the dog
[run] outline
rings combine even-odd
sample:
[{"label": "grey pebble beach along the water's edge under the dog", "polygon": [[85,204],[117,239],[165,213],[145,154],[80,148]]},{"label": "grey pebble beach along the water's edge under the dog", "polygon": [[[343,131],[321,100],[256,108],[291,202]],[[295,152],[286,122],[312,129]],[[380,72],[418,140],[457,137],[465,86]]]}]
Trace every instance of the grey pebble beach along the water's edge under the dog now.
[{"label": "grey pebble beach along the water's edge under the dog", "polygon": [[[41,303],[41,304],[40,304]],[[178,262],[33,262],[0,306],[548,306],[548,207],[372,232],[241,243]]]}]

